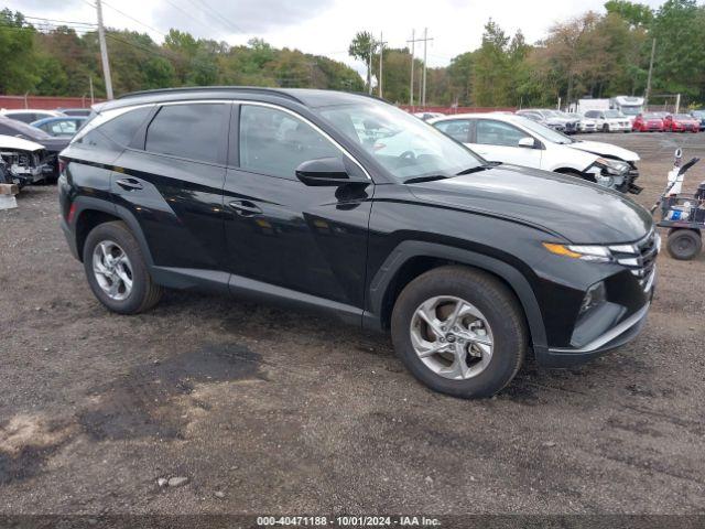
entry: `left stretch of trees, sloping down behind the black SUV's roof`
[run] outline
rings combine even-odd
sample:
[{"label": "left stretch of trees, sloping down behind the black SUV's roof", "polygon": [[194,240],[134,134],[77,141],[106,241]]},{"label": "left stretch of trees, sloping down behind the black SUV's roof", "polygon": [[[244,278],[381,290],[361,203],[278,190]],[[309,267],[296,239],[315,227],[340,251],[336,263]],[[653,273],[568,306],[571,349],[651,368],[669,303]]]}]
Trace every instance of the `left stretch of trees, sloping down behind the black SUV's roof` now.
[{"label": "left stretch of trees, sloping down behind the black SUV's roof", "polygon": [[[195,39],[172,29],[164,42],[147,33],[106,31],[117,95],[175,86],[249,85],[362,91],[346,64],[297,50],[276,50],[261,39],[247,45]],[[0,94],[85,96],[90,80],[105,97],[98,34],[86,26],[32,23],[0,11]]]}]

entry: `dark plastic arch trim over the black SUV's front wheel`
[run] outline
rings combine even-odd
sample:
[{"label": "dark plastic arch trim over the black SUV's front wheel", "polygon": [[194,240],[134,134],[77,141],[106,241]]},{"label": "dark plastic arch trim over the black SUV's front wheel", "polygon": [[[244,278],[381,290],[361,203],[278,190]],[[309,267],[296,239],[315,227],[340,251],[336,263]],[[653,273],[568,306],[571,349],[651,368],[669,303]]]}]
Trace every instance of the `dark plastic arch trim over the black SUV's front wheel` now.
[{"label": "dark plastic arch trim over the black SUV's front wheel", "polygon": [[405,240],[394,248],[372,278],[368,291],[369,311],[365,311],[362,326],[381,330],[382,301],[392,279],[404,262],[413,257],[448,259],[488,271],[503,279],[514,291],[524,310],[534,352],[547,352],[547,339],[543,316],[536,296],[527,278],[514,267],[494,257],[475,251],[433,242]]}]

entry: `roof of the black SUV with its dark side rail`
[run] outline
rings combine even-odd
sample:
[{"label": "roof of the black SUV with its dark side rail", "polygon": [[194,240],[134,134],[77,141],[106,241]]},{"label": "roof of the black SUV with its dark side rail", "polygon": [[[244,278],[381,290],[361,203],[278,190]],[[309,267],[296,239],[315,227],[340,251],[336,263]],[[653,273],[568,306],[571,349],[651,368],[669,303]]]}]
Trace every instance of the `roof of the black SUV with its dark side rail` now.
[{"label": "roof of the black SUV with its dark side rail", "polygon": [[379,98],[366,94],[350,94],[337,90],[313,88],[262,88],[253,86],[198,86],[184,88],[163,88],[134,91],[120,96],[101,106],[101,109],[119,108],[145,102],[177,101],[187,99],[286,99],[305,107],[318,108],[332,105],[345,105]]}]

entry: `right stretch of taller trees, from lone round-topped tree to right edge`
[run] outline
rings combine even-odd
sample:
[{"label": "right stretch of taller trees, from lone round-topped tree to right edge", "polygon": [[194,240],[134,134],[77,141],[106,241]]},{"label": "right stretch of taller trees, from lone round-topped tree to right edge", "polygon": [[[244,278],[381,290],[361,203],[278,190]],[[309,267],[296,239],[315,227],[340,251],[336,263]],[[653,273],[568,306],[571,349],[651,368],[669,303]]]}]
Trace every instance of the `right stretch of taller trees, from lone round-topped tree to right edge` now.
[{"label": "right stretch of taller trees, from lone round-topped tree to right edge", "polygon": [[[651,102],[681,94],[683,101],[705,104],[705,6],[695,0],[666,0],[659,9],[627,0],[609,0],[604,14],[586,12],[553,25],[529,44],[521,31],[510,35],[491,19],[480,46],[451,64],[427,69],[426,101],[477,107],[554,107],[582,97],[642,96],[655,39]],[[379,68],[379,46],[359,32],[350,55]],[[383,50],[383,96],[410,100],[411,53]],[[419,101],[423,63],[414,62],[414,101]],[[373,74],[375,75],[375,74]]]}]

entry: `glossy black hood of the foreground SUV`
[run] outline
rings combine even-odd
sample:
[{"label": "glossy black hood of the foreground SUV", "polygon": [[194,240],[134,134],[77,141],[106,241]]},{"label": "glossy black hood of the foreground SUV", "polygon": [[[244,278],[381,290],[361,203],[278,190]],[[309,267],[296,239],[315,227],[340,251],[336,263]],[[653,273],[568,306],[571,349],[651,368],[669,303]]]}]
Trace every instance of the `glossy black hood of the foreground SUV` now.
[{"label": "glossy black hood of the foreground SUV", "polygon": [[409,184],[422,201],[527,224],[574,244],[631,242],[653,226],[627,196],[579,180],[518,165]]}]

